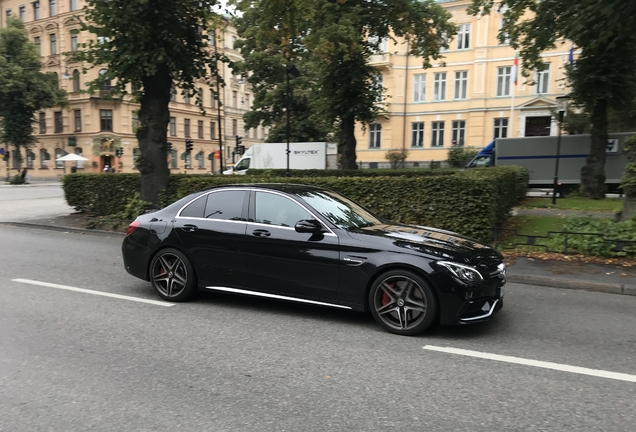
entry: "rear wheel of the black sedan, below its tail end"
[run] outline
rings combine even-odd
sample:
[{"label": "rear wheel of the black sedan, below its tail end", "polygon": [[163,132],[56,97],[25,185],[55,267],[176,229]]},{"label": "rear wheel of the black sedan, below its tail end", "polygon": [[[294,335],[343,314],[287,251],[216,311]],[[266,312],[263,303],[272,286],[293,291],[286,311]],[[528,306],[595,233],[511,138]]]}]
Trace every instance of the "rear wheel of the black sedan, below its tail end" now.
[{"label": "rear wheel of the black sedan, below its tail end", "polygon": [[197,280],[190,260],[176,249],[163,249],[150,263],[150,283],[167,301],[182,302],[197,292]]}]

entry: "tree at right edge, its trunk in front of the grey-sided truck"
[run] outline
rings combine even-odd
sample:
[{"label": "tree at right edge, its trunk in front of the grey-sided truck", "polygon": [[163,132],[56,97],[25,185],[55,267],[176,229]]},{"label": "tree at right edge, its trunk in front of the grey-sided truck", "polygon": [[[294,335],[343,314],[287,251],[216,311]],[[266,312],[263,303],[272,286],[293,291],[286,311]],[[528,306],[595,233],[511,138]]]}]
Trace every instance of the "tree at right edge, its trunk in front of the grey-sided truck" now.
[{"label": "tree at right edge, its trunk in front of the grey-sided truck", "polygon": [[[628,5],[629,4],[629,5]],[[473,0],[469,12],[489,13],[493,0]],[[622,109],[636,97],[636,36],[633,2],[623,0],[502,0],[499,10],[511,46],[521,48],[524,73],[542,63],[541,53],[572,41],[581,49],[574,65],[566,67],[570,97],[590,115],[591,143],[581,169],[580,194],[605,197],[605,149],[608,110]]]}]

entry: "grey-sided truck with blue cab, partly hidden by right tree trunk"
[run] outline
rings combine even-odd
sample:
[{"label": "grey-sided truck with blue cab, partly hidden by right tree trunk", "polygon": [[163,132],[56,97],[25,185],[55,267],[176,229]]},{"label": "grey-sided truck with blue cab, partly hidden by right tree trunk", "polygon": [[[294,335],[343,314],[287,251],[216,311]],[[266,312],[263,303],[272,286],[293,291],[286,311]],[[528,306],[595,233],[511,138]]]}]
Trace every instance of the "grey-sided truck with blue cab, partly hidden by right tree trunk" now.
[{"label": "grey-sided truck with blue cab, partly hidden by right tree trunk", "polygon": [[[616,191],[625,173],[627,159],[622,153],[623,142],[634,132],[611,133],[607,142],[605,184]],[[590,135],[562,135],[559,150],[559,191],[566,194],[581,182],[581,168],[590,151]],[[484,147],[466,168],[520,165],[530,171],[531,188],[551,188],[557,158],[556,136],[498,138]]]}]

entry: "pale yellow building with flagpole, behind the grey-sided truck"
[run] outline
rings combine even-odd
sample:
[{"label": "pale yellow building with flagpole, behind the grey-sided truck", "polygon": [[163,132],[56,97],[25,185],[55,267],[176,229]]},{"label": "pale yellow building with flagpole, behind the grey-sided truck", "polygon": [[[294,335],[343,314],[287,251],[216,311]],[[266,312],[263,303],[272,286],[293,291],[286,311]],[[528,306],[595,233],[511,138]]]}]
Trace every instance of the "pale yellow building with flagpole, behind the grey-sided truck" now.
[{"label": "pale yellow building with flagpole, behind the grey-sided truck", "polygon": [[[445,161],[455,143],[481,148],[493,138],[556,135],[552,111],[567,92],[564,65],[571,45],[542,54],[545,68],[511,82],[515,51],[498,40],[502,14],[466,13],[470,0],[439,0],[452,14],[457,35],[445,63],[422,68],[403,40],[382,41],[371,64],[382,72],[386,115],[356,129],[361,167],[385,167],[389,149],[408,151],[406,166]],[[519,60],[520,62],[520,60]]]}]

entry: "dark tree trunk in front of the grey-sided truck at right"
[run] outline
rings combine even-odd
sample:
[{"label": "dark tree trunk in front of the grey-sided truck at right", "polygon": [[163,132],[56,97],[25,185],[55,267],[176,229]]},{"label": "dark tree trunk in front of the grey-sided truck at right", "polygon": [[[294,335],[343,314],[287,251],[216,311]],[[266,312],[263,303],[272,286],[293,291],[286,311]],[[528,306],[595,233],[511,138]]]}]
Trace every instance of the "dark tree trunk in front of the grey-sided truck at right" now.
[{"label": "dark tree trunk in front of the grey-sided truck at right", "polygon": [[581,168],[581,196],[605,198],[605,156],[608,141],[607,101],[599,100],[592,110],[590,154]]}]

